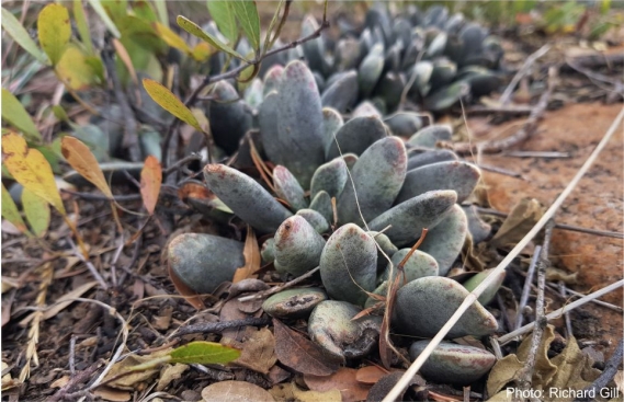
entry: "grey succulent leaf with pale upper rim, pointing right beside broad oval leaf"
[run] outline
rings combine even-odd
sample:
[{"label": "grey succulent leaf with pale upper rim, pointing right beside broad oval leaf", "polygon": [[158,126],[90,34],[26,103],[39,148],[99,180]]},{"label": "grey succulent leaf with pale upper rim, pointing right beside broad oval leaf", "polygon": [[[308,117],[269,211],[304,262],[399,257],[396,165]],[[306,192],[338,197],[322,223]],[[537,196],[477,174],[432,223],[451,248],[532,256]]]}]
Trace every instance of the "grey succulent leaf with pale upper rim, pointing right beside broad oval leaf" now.
[{"label": "grey succulent leaf with pale upper rim, pointing right beside broad oval leaf", "polygon": [[457,203],[466,199],[481,177],[479,168],[464,161],[426,164],[407,172],[397,203],[433,189],[454,189]]}]

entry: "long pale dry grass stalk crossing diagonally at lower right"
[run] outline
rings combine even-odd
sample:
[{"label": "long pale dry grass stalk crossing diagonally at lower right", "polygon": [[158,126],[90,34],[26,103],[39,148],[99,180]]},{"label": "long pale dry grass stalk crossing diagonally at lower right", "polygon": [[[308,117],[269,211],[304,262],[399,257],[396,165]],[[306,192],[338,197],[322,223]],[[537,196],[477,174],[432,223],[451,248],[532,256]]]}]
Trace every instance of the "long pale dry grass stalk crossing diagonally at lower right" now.
[{"label": "long pale dry grass stalk crossing diagonally at lower right", "polygon": [[[555,215],[555,213],[557,211],[557,209],[559,209],[559,207],[561,206],[561,204],[564,204],[564,202],[566,200],[566,198],[570,195],[570,193],[576,188],[578,182],[581,180],[581,177],[587,173],[587,171],[589,170],[589,168],[591,168],[591,165],[593,164],[593,162],[595,161],[595,159],[598,158],[599,153],[604,149],[604,147],[606,146],[606,143],[609,142],[609,140],[613,137],[613,135],[617,131],[617,128],[620,127],[620,124],[622,123],[622,119],[624,118],[624,110],[622,112],[620,112],[620,114],[617,115],[617,117],[615,117],[615,119],[613,120],[613,124],[611,125],[611,127],[609,127],[609,129],[606,130],[606,133],[604,134],[604,137],[602,138],[602,140],[598,143],[598,146],[595,147],[595,149],[593,150],[593,152],[591,153],[591,156],[587,159],[587,161],[583,163],[583,165],[579,169],[579,171],[577,172],[577,174],[575,175],[575,177],[571,180],[571,182],[569,183],[569,185],[564,189],[564,192],[557,197],[557,199],[555,199],[555,202],[553,203],[553,205],[548,208],[548,210],[546,210],[546,213],[544,213],[544,216],[537,221],[537,223],[535,223],[535,226],[533,227],[533,229],[531,229],[529,231],[529,233],[526,233],[526,236],[520,241],[518,242],[518,244],[509,252],[509,254],[498,264],[498,266],[496,268],[493,268],[491,271],[491,273],[484,279],[484,282],[481,282],[481,284],[479,286],[477,286],[477,288],[475,290],[473,290],[465,299],[464,302],[462,302],[462,305],[460,306],[460,308],[455,311],[455,313],[451,317],[451,319],[449,319],[449,321],[446,322],[446,324],[444,324],[444,326],[438,332],[438,334],[431,340],[431,342],[429,343],[429,345],[427,345],[427,347],[424,348],[424,351],[422,351],[422,353],[420,354],[420,356],[418,356],[418,358],[416,360],[413,360],[413,363],[411,364],[411,366],[409,366],[408,370],[402,375],[402,377],[400,378],[400,380],[395,384],[395,387],[393,387],[393,389],[388,392],[388,394],[386,395],[386,398],[384,398],[383,402],[393,402],[395,400],[397,400],[402,392],[405,391],[405,389],[409,386],[411,379],[413,378],[413,376],[418,372],[418,370],[422,367],[422,365],[424,364],[424,361],[429,358],[429,356],[431,356],[431,353],[433,352],[433,349],[440,345],[440,342],[442,342],[442,340],[444,338],[444,336],[446,336],[446,334],[449,333],[449,331],[451,331],[451,329],[455,325],[455,323],[464,315],[464,313],[468,310],[468,308],[475,303],[475,301],[477,301],[478,297],[489,287],[491,286],[492,282],[496,280],[496,278],[498,277],[498,275],[504,269],[507,268],[507,266],[509,264],[511,264],[511,262],[520,254],[520,252],[522,252],[522,250],[524,250],[524,248],[529,244],[529,242],[531,242],[531,240],[542,230],[542,228],[544,228],[544,226],[553,218],[553,216]],[[613,290],[614,288],[617,288],[620,286],[624,285],[624,279],[620,280],[616,284],[613,284],[612,286],[609,286],[609,290]],[[605,288],[606,289],[606,288]],[[595,298],[595,297],[594,297]],[[581,299],[582,300],[582,299]],[[578,300],[580,301],[580,300]],[[585,301],[587,302],[587,301]],[[574,303],[571,303],[574,305]],[[567,306],[568,308],[571,306]],[[581,303],[582,305],[582,303]],[[547,317],[549,318],[551,314],[548,314]],[[521,329],[522,330],[522,329]],[[530,331],[530,330],[529,330]],[[518,336],[518,334],[515,334],[514,336]]]}]

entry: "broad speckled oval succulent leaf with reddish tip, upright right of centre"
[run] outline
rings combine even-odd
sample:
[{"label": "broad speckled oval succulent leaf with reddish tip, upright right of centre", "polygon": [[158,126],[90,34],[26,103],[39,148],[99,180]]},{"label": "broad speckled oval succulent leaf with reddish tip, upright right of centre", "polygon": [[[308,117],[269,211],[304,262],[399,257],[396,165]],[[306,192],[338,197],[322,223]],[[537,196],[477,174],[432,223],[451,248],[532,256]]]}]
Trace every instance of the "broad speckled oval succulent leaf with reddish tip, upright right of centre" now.
[{"label": "broad speckled oval succulent leaf with reddish tip, upright right of centre", "polygon": [[[363,225],[393,205],[407,170],[407,153],[402,140],[386,137],[364,151],[351,171],[338,198],[338,220]],[[355,196],[358,199],[355,199]]]}]

